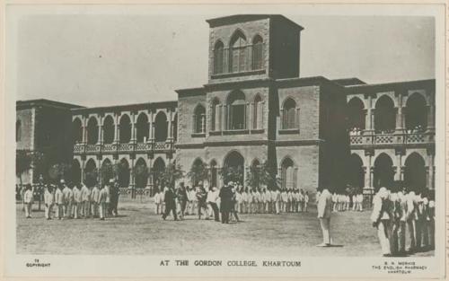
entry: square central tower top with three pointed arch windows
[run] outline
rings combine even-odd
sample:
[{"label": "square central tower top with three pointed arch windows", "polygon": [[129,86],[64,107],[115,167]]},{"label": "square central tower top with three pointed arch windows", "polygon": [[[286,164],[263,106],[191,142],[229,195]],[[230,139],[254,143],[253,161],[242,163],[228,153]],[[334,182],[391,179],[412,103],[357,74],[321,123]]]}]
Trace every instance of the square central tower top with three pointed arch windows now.
[{"label": "square central tower top with three pointed arch windows", "polygon": [[302,26],[277,14],[236,14],[207,22],[208,83],[299,77]]}]

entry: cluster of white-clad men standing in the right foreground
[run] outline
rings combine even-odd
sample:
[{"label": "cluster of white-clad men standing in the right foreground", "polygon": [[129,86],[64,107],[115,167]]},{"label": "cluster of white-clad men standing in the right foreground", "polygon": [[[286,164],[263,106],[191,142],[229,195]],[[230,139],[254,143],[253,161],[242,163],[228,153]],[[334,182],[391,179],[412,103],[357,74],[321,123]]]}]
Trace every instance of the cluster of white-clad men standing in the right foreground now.
[{"label": "cluster of white-clad men standing in the right foreground", "polygon": [[371,221],[383,256],[435,249],[435,200],[426,192],[381,188],[373,205]]}]

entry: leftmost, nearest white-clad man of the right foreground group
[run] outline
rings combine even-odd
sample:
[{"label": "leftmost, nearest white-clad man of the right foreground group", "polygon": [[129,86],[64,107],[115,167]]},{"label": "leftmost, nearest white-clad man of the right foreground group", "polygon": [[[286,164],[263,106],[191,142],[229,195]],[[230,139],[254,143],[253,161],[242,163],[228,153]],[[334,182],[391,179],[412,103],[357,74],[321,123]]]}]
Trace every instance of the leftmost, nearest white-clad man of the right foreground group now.
[{"label": "leftmost, nearest white-clad man of the right foreground group", "polygon": [[377,228],[377,236],[381,243],[384,257],[392,255],[390,240],[392,238],[392,208],[390,192],[386,188],[380,188],[373,199],[373,213],[371,222]]}]

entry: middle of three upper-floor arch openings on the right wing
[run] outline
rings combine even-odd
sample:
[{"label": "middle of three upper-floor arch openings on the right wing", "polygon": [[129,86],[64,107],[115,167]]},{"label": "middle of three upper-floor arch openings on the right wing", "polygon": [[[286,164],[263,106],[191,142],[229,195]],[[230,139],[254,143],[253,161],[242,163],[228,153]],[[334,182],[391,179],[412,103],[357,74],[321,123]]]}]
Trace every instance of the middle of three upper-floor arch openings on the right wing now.
[{"label": "middle of three upper-floor arch openings on the right wing", "polygon": [[396,111],[392,99],[383,95],[375,103],[374,130],[376,133],[392,133],[396,127]]}]

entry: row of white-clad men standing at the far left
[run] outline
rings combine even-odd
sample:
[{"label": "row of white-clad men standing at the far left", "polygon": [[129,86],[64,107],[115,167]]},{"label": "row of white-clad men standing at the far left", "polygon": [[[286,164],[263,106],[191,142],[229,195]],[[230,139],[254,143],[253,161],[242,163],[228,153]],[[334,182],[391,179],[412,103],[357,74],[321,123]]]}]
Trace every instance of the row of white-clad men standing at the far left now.
[{"label": "row of white-clad men standing at the far left", "polygon": [[[31,185],[26,186],[23,195],[25,216],[31,218],[31,209],[34,202]],[[94,185],[88,188],[81,185],[60,180],[56,186],[48,184],[44,190],[45,218],[89,218],[99,217],[104,220],[106,214],[118,215],[119,186],[115,180],[110,180],[104,186]],[[55,209],[54,209],[55,208]]]}]

